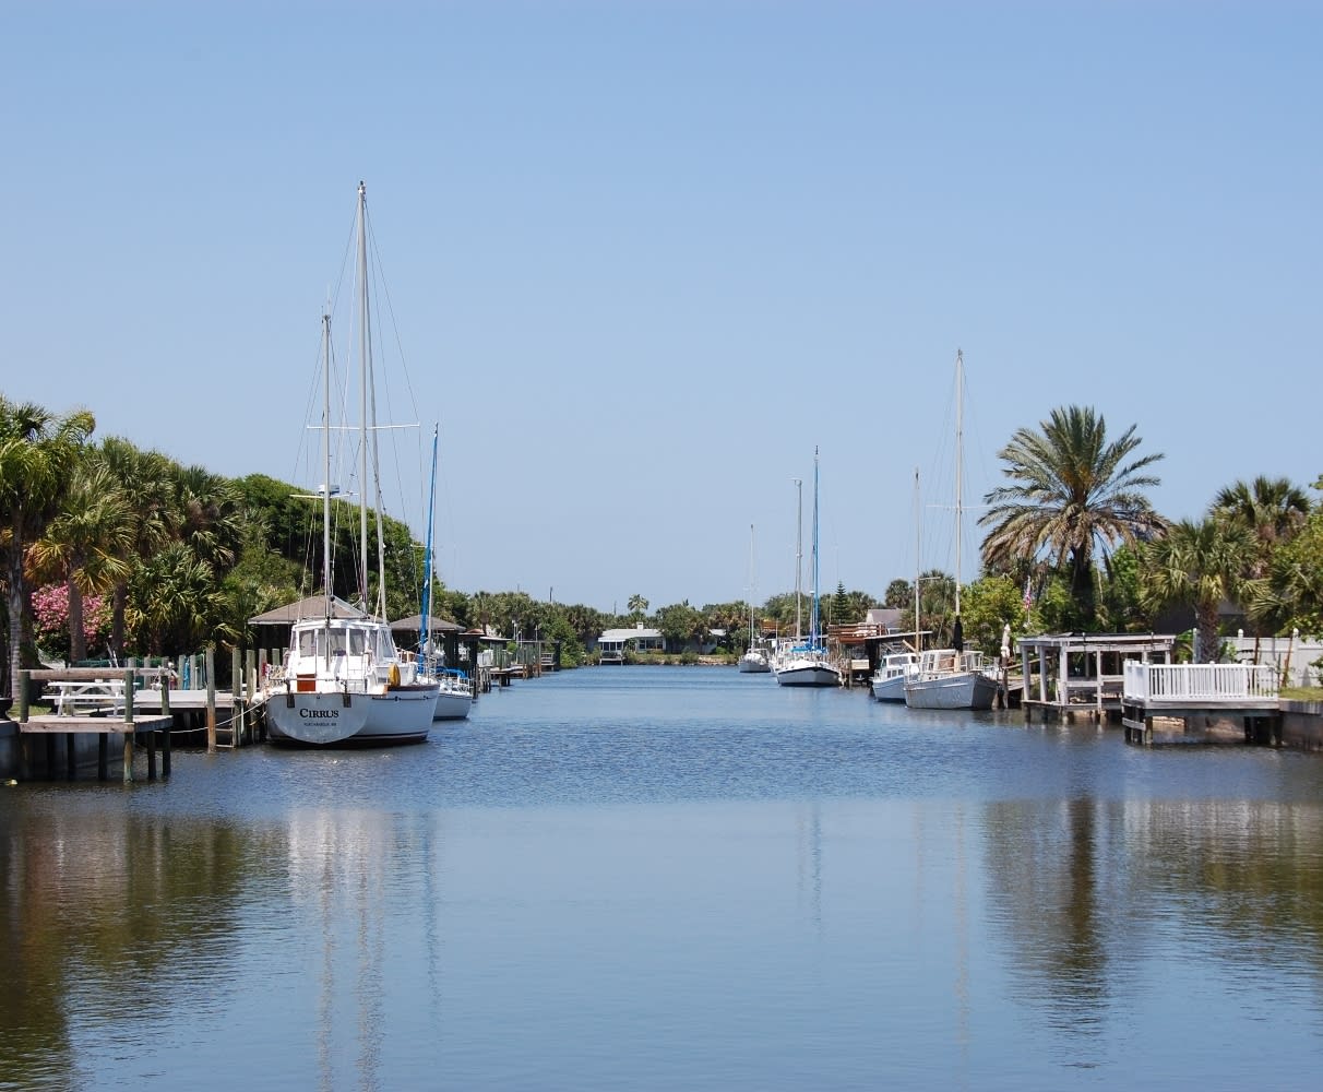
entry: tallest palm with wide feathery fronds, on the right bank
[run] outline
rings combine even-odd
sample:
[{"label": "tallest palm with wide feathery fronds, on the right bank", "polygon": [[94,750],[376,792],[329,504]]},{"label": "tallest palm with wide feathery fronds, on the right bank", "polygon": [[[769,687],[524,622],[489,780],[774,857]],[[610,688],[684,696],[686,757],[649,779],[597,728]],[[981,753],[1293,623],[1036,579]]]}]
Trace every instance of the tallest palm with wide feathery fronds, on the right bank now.
[{"label": "tallest palm with wide feathery fronds, on the right bank", "polygon": [[1017,564],[1048,561],[1066,569],[1091,618],[1095,552],[1146,541],[1166,525],[1143,494],[1159,483],[1148,467],[1163,457],[1136,458],[1140,442],[1134,425],[1109,442],[1103,417],[1081,406],[1052,410],[1041,432],[1017,429],[998,453],[1015,484],[987,494],[991,507],[979,518],[991,527],[984,567],[1016,572]]}]

